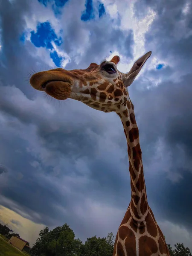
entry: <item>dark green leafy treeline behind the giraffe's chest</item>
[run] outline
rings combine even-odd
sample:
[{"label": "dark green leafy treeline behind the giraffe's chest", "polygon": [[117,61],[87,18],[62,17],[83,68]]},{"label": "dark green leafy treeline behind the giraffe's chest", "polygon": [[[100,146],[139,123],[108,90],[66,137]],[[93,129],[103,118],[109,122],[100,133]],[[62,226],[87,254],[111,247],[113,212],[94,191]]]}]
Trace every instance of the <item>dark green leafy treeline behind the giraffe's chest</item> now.
[{"label": "dark green leafy treeline behind the giraffe's chest", "polygon": [[[53,230],[48,227],[41,230],[30,253],[32,256],[112,256],[114,240],[113,233],[109,233],[105,238],[87,238],[83,244],[76,239],[73,230],[64,224]],[[170,256],[192,256],[189,248],[183,244],[175,244],[174,250],[170,244],[167,245]]]}]

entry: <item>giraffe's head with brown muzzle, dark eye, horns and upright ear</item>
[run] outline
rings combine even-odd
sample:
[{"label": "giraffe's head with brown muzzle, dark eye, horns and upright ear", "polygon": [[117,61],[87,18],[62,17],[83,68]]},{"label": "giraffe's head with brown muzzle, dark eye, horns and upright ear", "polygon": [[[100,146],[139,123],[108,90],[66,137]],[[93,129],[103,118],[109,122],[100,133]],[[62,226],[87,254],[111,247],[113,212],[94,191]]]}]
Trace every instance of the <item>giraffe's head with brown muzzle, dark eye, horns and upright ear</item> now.
[{"label": "giraffe's head with brown muzzle, dark eye, horns and upright ear", "polygon": [[135,61],[126,74],[117,70],[119,56],[114,56],[111,61],[103,61],[99,65],[91,63],[85,70],[57,68],[35,73],[30,84],[55,99],[76,99],[91,108],[118,113],[130,101],[126,87],[134,81],[150,55],[151,52],[147,52]]}]

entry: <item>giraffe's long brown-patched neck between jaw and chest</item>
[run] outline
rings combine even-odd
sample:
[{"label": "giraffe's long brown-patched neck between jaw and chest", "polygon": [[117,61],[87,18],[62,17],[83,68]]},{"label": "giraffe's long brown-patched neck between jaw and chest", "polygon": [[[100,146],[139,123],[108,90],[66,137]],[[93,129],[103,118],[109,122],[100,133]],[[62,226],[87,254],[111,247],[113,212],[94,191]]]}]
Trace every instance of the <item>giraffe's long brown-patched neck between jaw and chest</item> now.
[{"label": "giraffe's long brown-patched neck between jaw and chest", "polygon": [[121,118],[128,145],[129,172],[131,178],[131,202],[129,209],[135,221],[143,221],[148,213],[148,201],[143,174],[142,152],[139,130],[134,115],[134,106],[127,102],[125,111],[118,113]]}]

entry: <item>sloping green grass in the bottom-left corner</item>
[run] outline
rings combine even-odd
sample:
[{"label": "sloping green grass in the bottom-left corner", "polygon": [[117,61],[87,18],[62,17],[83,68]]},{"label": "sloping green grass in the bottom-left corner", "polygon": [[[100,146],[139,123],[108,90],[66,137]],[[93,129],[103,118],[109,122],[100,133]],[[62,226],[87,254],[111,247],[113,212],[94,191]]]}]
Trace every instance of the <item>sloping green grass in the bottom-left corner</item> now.
[{"label": "sloping green grass in the bottom-left corner", "polygon": [[6,238],[0,235],[0,256],[29,256],[28,253],[21,252],[4,239]]}]

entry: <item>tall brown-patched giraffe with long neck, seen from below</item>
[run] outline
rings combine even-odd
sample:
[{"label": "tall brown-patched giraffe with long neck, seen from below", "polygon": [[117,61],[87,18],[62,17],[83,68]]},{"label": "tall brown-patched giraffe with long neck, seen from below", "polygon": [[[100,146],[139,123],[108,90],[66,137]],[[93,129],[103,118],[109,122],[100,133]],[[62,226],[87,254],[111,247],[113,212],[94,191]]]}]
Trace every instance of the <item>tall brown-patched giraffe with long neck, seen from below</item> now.
[{"label": "tall brown-patched giraffe with long neck, seen from below", "polygon": [[163,233],[148,205],[139,130],[127,88],[150,55],[147,52],[140,57],[126,74],[117,70],[120,58],[114,56],[99,65],[91,63],[84,70],[57,68],[30,78],[32,87],[55,99],[76,99],[99,111],[114,111],[122,121],[128,145],[131,201],[116,235],[113,256],[169,256]]}]

